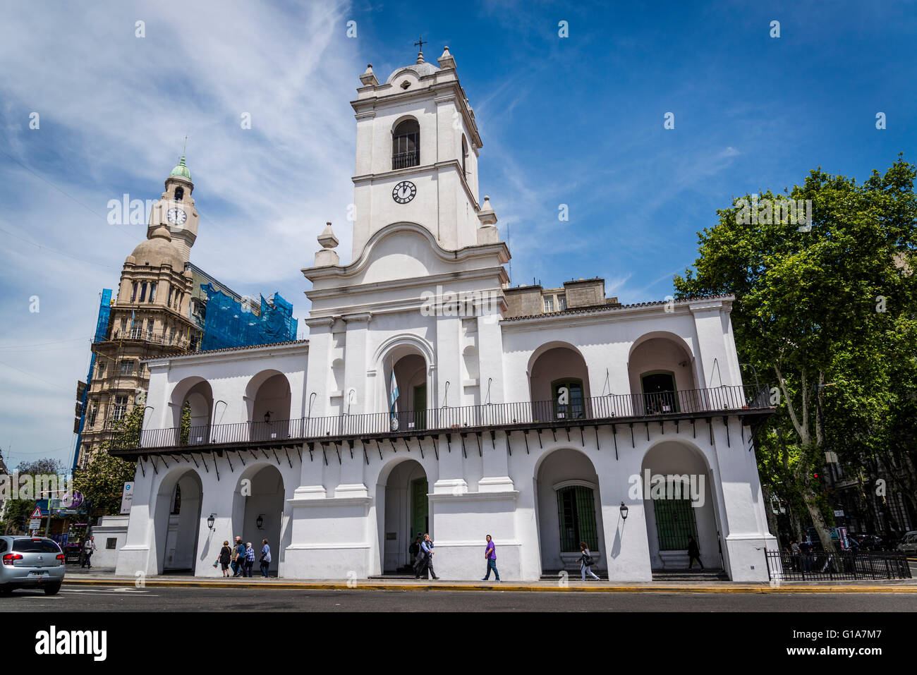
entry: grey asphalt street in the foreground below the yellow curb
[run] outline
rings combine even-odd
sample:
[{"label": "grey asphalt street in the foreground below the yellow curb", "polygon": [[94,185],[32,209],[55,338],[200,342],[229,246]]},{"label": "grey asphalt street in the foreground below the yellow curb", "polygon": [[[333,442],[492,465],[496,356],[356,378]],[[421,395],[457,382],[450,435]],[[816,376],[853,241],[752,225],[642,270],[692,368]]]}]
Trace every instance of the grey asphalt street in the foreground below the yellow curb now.
[{"label": "grey asphalt street in the foreground below the yellow curb", "polygon": [[346,591],[65,585],[16,591],[0,612],[917,612],[917,594]]}]

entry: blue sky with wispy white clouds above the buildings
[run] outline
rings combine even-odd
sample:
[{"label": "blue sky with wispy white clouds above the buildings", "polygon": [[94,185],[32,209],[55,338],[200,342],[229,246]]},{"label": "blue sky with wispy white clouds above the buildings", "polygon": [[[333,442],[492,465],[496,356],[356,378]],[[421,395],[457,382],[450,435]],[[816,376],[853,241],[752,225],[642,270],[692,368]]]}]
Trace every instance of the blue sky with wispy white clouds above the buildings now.
[{"label": "blue sky with wispy white clouds above the buildings", "polygon": [[421,36],[429,61],[449,46],[475,109],[514,284],[602,276],[621,302],[662,299],[735,196],[917,159],[914,2],[17,6],[0,26],[8,464],[69,464],[98,293],[146,229],[109,225],[106,204],[158,198],[185,135],[193,262],[307,315],[300,269],[327,220],[349,260],[359,74],[414,62]]}]

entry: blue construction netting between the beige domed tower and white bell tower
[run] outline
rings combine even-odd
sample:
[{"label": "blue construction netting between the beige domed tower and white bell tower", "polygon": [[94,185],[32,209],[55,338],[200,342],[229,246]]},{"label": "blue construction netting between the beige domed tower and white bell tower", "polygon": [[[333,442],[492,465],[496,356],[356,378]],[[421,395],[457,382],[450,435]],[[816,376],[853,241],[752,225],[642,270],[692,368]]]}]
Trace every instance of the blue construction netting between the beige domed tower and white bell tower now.
[{"label": "blue construction netting between the beige domed tower and white bell tower", "polygon": [[[207,294],[201,351],[271,345],[296,339],[299,322],[293,318],[293,304],[284,300],[280,293],[274,293],[272,303],[260,296],[260,315],[255,315],[247,306],[247,300],[240,303],[231,295],[217,291],[212,283],[202,283],[201,289]],[[252,299],[251,302],[259,301]]]}]

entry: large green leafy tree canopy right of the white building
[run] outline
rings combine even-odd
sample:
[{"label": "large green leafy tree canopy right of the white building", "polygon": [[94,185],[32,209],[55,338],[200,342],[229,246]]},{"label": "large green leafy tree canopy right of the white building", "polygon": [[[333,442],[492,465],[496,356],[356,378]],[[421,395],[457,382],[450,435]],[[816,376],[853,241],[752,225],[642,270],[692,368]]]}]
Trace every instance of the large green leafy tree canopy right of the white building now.
[{"label": "large green leafy tree canopy right of the white building", "polygon": [[722,209],[719,224],[699,233],[694,270],[674,280],[679,297],[735,293],[740,359],[780,390],[778,414],[757,440],[762,481],[804,505],[817,527],[821,515],[831,519],[812,477],[825,450],[848,473],[876,458],[903,464],[906,498],[917,492],[915,175],[900,157],[862,185],[812,171],[790,192],[812,200],[809,231],[777,218],[744,225],[738,205]]}]

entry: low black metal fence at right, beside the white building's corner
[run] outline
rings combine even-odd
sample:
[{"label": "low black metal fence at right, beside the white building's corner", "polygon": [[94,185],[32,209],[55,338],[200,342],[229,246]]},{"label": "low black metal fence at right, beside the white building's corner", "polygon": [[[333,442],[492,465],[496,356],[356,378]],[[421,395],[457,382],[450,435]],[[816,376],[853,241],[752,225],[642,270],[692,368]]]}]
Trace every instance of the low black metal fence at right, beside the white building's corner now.
[{"label": "low black metal fence at right, beside the white building's corner", "polygon": [[772,581],[911,579],[908,559],[903,553],[893,551],[816,551],[808,556],[767,551],[767,559],[768,578]]}]

